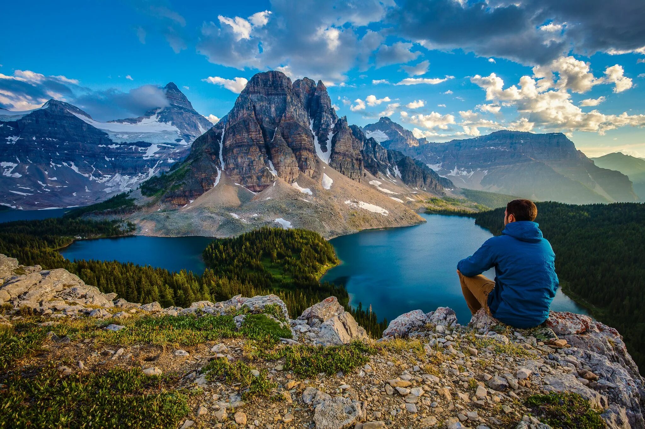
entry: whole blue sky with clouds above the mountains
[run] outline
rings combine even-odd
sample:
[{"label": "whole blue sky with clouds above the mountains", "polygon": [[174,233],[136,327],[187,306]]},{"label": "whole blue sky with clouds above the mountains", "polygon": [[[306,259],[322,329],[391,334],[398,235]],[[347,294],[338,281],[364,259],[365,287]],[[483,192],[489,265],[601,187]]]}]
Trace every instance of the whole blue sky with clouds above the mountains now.
[{"label": "whole blue sky with clouds above the mountains", "polygon": [[642,0],[30,1],[3,5],[0,107],[140,116],[175,82],[212,122],[255,73],[323,80],[339,116],[428,141],[564,132],[645,157]]}]

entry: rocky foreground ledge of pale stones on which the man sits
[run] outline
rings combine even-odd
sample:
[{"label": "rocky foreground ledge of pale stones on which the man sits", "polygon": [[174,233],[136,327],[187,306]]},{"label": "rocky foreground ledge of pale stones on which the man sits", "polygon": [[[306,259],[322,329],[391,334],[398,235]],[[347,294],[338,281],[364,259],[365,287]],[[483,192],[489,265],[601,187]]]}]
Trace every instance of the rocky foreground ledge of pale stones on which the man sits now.
[{"label": "rocky foreground ledge of pale stones on which the man sits", "polygon": [[[548,429],[540,421],[542,410],[526,401],[544,393],[582,397],[610,429],[645,428],[644,380],[622,337],[611,327],[573,313],[552,312],[541,327],[515,330],[483,311],[464,326],[448,307],[430,313],[415,310],[392,320],[374,342],[334,297],[295,319],[275,295],[237,295],[223,302],[163,309],[157,302],[135,304],[101,293],[64,269],[19,266],[4,255],[0,304],[3,329],[12,331],[14,324],[25,329],[37,322],[39,329],[52,331],[37,355],[14,362],[9,371],[30,365],[30,371],[21,372],[26,380],[35,369],[54,363],[59,376],[70,380],[119,368],[150,376],[178,374],[174,384],[164,388],[199,387],[204,392],[189,397],[190,411],[177,422],[184,422],[184,428],[234,420],[257,421],[259,427],[281,422],[328,429]],[[184,342],[173,337],[183,344],[181,349],[132,335],[138,320],[186,315],[230,318],[222,323],[237,332],[215,340],[195,335]],[[259,347],[249,347],[253,340],[244,333],[249,315],[264,315],[266,324],[291,332],[292,338],[281,338],[279,350],[299,347],[293,353],[297,368],[282,353],[276,360],[258,354]],[[106,325],[108,320],[112,324]],[[64,329],[72,323],[85,328]],[[183,329],[190,332],[187,325]],[[163,327],[157,331],[163,334]],[[310,360],[308,354],[315,350],[307,348],[310,345],[335,348]],[[217,377],[209,372],[213,361],[246,368],[251,379],[259,378],[269,387],[264,392],[268,397],[246,401],[243,395],[254,394],[240,386],[246,381]],[[324,362],[349,366],[338,372],[321,366]],[[314,365],[314,374],[304,376],[302,365]],[[282,405],[275,407],[276,401]],[[573,412],[573,418],[581,412],[561,406],[562,412]]]}]

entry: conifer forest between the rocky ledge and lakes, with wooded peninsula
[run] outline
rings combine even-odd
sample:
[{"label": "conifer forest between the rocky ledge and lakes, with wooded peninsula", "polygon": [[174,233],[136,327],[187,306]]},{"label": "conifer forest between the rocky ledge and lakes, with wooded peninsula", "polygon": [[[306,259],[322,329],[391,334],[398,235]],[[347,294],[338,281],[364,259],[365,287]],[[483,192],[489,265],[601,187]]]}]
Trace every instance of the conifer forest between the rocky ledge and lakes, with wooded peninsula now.
[{"label": "conifer forest between the rocky ledge and lakes, with wooded peninsula", "polygon": [[74,239],[132,232],[132,224],[70,217],[0,223],[0,253],[25,265],[65,268],[86,284],[104,293],[115,292],[130,302],[158,301],[163,307],[186,307],[200,300],[215,302],[240,294],[253,297],[275,293],[296,317],[306,307],[333,295],[374,336],[380,336],[386,327],[385,321],[377,322],[375,313],[361,306],[352,309],[344,286],[319,284],[324,271],[338,260],[332,245],[311,231],[263,228],[233,239],[216,239],[204,250],[209,267],[204,273],[171,273],[117,261],[70,262],[57,251]]}]

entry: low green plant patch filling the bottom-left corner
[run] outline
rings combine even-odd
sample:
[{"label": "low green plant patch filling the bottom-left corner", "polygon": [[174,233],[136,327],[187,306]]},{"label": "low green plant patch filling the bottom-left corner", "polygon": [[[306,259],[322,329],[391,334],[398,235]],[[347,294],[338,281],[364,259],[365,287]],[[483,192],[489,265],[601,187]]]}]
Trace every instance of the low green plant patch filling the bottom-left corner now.
[{"label": "low green plant patch filling the bottom-left corner", "polygon": [[[188,414],[170,379],[140,369],[59,376],[48,367],[0,390],[0,428],[168,428]],[[154,392],[153,392],[154,391]]]}]

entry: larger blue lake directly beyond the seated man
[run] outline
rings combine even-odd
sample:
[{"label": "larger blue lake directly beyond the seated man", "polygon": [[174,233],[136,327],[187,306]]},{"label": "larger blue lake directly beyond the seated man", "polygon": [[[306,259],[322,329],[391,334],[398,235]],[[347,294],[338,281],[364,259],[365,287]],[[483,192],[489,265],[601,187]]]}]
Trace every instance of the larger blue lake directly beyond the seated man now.
[{"label": "larger blue lake directly beyond the seated man", "polygon": [[[341,259],[321,280],[342,282],[350,304],[372,304],[379,318],[392,320],[407,311],[450,307],[462,324],[470,310],[461,293],[457,262],[470,256],[492,234],[469,217],[426,215],[427,223],[406,228],[368,230],[342,235],[330,242]],[[502,219],[500,219],[502,222]],[[484,273],[495,278],[495,270]],[[584,313],[558,290],[554,311]]]}]

